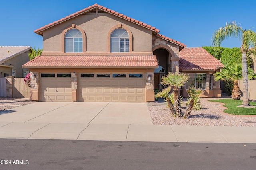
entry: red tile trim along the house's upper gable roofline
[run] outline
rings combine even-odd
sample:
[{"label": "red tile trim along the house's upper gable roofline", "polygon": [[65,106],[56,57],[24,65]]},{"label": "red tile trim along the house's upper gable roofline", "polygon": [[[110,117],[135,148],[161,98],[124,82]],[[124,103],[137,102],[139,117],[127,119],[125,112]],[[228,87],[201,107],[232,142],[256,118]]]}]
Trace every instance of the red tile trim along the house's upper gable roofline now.
[{"label": "red tile trim along the house's upper gable roofline", "polygon": [[119,12],[116,12],[116,11],[114,11],[114,10],[110,10],[110,9],[108,9],[108,8],[106,8],[106,7],[104,7],[104,6],[98,5],[98,4],[94,4],[94,5],[92,5],[92,6],[89,6],[89,7],[87,7],[87,8],[84,8],[83,10],[80,10],[80,11],[78,11],[78,12],[75,12],[74,14],[71,14],[71,15],[69,15],[69,16],[66,16],[66,17],[64,17],[64,18],[62,18],[62,19],[60,19],[60,20],[58,20],[58,21],[55,21],[55,22],[50,23],[50,24],[48,24],[48,25],[45,25],[44,27],[38,28],[38,29],[36,29],[34,32],[37,33],[38,35],[42,35],[42,31],[44,31],[45,29],[48,29],[48,28],[50,28],[50,27],[52,27],[52,26],[54,26],[54,25],[57,25],[57,24],[59,24],[59,23],[62,23],[62,22],[64,22],[64,21],[66,21],[66,20],[70,20],[71,18],[74,18],[74,17],[79,16],[79,15],[81,15],[81,14],[84,14],[84,13],[86,13],[86,12],[88,12],[88,11],[91,11],[91,10],[94,9],[94,8],[98,8],[98,9],[100,9],[100,10],[103,10],[103,11],[108,12],[108,13],[110,13],[110,14],[114,14],[114,15],[116,15],[116,16],[118,16],[118,17],[120,17],[120,18],[123,18],[123,19],[125,19],[125,20],[131,21],[131,22],[133,22],[133,23],[136,23],[136,24],[138,24],[138,25],[141,25],[141,26],[143,26],[143,27],[146,27],[146,28],[148,28],[148,29],[151,29],[152,31],[156,32],[156,34],[157,34],[158,37],[160,37],[160,38],[162,38],[162,39],[165,39],[165,40],[167,40],[167,41],[171,41],[172,43],[175,43],[175,44],[180,45],[180,46],[182,46],[182,47],[186,47],[185,44],[180,43],[179,41],[176,41],[176,40],[170,39],[170,38],[168,38],[168,37],[166,37],[166,36],[160,35],[160,34],[159,34],[160,30],[159,30],[159,29],[156,29],[155,27],[152,27],[152,26],[150,26],[150,25],[148,25],[148,24],[146,24],[146,23],[143,23],[143,22],[141,22],[141,21],[135,20],[135,19],[133,19],[133,18],[130,18],[130,17],[128,17],[128,16],[125,16],[124,14],[120,14]]}]

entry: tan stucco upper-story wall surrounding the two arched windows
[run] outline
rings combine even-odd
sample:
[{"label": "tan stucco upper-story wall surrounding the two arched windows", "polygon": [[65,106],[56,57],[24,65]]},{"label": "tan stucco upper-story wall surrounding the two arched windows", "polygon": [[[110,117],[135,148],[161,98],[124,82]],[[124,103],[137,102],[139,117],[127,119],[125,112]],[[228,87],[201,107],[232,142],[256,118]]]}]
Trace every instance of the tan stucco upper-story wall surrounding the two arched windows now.
[{"label": "tan stucco upper-story wall surrounding the two arched windows", "polygon": [[62,51],[62,31],[66,27],[75,24],[81,27],[86,34],[86,51],[108,51],[108,31],[123,24],[130,29],[133,37],[133,51],[151,51],[151,32],[140,25],[124,20],[117,16],[104,15],[80,15],[64,23],[46,29],[43,33],[44,52]]}]

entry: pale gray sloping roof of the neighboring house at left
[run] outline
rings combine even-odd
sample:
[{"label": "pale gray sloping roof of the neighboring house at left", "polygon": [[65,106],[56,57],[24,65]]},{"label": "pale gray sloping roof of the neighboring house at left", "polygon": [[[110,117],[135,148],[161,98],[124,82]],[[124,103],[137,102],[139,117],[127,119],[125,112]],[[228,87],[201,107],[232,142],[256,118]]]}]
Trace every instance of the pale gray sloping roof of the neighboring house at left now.
[{"label": "pale gray sloping roof of the neighboring house at left", "polygon": [[29,46],[0,46],[0,63],[4,63],[5,61],[30,49],[31,47]]}]

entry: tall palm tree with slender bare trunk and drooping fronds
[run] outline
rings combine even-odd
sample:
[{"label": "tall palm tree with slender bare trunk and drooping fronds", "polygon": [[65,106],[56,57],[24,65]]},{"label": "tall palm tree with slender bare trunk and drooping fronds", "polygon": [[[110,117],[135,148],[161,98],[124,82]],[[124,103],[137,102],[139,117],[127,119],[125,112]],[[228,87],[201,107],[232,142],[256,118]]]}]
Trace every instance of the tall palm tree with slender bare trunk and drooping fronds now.
[{"label": "tall palm tree with slender bare trunk and drooping fronds", "polygon": [[243,29],[236,22],[226,23],[225,27],[217,29],[212,36],[212,45],[220,47],[220,44],[224,39],[229,37],[240,38],[241,52],[242,52],[242,75],[243,75],[243,105],[250,105],[249,92],[248,92],[248,63],[247,56],[250,51],[256,51],[256,33],[251,29]]}]

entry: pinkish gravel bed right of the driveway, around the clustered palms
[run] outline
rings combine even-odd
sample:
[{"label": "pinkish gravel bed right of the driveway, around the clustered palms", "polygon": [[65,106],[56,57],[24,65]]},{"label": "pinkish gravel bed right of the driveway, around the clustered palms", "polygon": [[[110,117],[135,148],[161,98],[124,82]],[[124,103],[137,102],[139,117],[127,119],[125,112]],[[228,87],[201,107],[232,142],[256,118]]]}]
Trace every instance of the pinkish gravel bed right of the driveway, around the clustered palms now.
[{"label": "pinkish gravel bed right of the driveway, around the clustered palms", "polygon": [[[228,98],[228,96],[224,96]],[[202,98],[202,110],[193,110],[188,119],[172,117],[163,100],[148,103],[148,110],[154,125],[193,125],[193,126],[256,126],[256,115],[230,115],[217,102],[220,98]],[[183,106],[182,112],[185,111]],[[256,109],[255,109],[256,112]]]}]

